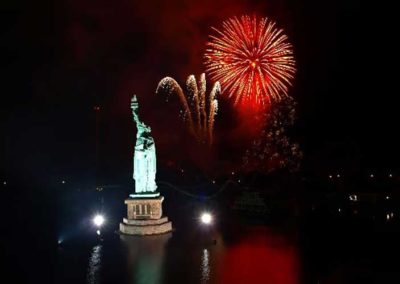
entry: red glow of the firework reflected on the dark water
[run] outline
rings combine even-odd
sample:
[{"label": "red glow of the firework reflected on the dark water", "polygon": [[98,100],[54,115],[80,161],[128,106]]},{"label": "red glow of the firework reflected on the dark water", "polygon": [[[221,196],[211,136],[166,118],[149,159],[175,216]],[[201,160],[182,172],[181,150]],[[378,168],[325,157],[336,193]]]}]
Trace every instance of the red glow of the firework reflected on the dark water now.
[{"label": "red glow of the firework reflected on the dark water", "polygon": [[218,270],[218,283],[300,282],[297,248],[263,227],[251,229],[235,245],[227,246]]}]

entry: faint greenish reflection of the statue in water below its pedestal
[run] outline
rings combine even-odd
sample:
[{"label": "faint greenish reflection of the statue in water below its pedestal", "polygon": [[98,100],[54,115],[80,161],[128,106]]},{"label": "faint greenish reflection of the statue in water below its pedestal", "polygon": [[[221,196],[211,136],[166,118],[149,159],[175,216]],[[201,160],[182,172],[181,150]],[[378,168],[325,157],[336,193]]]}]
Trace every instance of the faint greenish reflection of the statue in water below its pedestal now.
[{"label": "faint greenish reflection of the statue in water below its pedestal", "polygon": [[164,251],[171,234],[136,237],[121,235],[127,248],[129,283],[163,283]]}]

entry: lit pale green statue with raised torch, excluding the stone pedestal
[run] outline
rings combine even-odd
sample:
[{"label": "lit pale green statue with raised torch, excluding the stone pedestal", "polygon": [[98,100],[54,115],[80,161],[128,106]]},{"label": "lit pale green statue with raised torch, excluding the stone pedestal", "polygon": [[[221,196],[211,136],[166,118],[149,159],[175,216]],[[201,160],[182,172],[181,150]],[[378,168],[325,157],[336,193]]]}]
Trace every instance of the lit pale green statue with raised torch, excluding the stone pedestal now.
[{"label": "lit pale green statue with raised torch, excluding the stone pedestal", "polygon": [[133,158],[135,193],[129,196],[132,198],[157,197],[160,193],[157,192],[156,185],[156,147],[154,139],[151,137],[151,128],[139,119],[139,104],[136,96],[132,97],[131,108],[137,134]]}]

